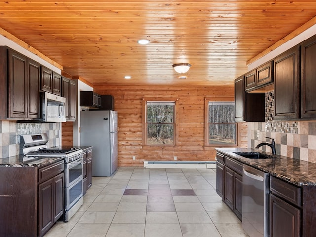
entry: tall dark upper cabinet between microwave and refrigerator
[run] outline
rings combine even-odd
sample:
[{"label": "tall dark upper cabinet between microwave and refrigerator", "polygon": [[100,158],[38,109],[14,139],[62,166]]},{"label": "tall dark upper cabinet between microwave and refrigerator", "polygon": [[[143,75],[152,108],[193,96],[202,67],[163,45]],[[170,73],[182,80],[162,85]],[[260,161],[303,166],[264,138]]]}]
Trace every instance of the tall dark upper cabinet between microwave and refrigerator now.
[{"label": "tall dark upper cabinet between microwave and refrigerator", "polygon": [[76,82],[62,77],[62,96],[66,98],[65,118],[66,121],[76,120]]}]

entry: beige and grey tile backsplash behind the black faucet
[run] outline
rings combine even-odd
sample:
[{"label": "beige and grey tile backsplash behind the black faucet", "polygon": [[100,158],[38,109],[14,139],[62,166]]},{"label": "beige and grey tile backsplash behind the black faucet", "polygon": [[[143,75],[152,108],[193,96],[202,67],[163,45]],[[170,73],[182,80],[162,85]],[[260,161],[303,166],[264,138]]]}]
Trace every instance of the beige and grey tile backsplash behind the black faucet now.
[{"label": "beige and grey tile backsplash behind the black faucet", "polygon": [[[316,163],[316,121],[274,121],[274,94],[266,93],[265,122],[248,123],[248,146],[276,142],[276,154]],[[257,131],[260,136],[257,137]],[[259,149],[271,152],[269,146]]]}]

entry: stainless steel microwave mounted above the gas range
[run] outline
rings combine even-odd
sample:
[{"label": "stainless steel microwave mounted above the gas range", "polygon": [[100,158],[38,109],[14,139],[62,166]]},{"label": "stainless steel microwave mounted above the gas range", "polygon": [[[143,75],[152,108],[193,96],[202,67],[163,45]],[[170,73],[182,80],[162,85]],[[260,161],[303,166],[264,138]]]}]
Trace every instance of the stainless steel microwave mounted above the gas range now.
[{"label": "stainless steel microwave mounted above the gas range", "polygon": [[66,122],[66,98],[51,93],[42,94],[43,122]]}]

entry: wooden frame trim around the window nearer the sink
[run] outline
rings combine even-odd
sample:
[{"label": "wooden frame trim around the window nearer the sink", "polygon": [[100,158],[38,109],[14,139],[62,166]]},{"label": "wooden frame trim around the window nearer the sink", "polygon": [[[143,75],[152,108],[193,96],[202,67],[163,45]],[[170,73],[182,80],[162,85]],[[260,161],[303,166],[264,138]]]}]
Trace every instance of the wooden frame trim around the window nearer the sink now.
[{"label": "wooden frame trim around the window nearer the sink", "polygon": [[220,97],[205,97],[204,110],[205,110],[205,121],[204,121],[204,146],[205,147],[236,147],[238,144],[238,125],[235,122],[235,144],[210,144],[209,143],[209,110],[208,102],[235,102],[234,96],[220,96]]}]

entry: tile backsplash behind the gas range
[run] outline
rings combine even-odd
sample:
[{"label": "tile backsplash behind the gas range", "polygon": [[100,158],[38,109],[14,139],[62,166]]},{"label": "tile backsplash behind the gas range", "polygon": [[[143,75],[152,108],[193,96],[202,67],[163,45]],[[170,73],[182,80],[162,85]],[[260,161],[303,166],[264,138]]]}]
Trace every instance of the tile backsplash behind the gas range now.
[{"label": "tile backsplash behind the gas range", "polygon": [[61,123],[19,123],[0,120],[0,158],[20,153],[18,135],[47,133],[48,146],[61,145]]}]

